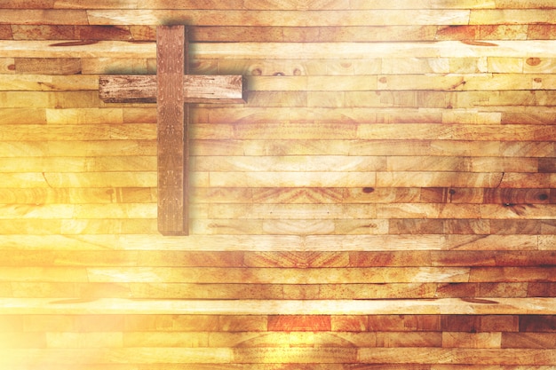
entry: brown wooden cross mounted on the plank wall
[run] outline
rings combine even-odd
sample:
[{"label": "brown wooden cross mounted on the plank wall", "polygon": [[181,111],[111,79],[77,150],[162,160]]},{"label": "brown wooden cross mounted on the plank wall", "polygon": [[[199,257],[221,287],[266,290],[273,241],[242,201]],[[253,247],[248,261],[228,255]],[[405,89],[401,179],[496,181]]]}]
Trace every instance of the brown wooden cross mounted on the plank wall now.
[{"label": "brown wooden cross mounted on the plank wall", "polygon": [[107,103],[156,103],[158,231],[188,235],[188,103],[244,103],[241,75],[187,75],[187,28],[156,28],[156,75],[99,77]]}]

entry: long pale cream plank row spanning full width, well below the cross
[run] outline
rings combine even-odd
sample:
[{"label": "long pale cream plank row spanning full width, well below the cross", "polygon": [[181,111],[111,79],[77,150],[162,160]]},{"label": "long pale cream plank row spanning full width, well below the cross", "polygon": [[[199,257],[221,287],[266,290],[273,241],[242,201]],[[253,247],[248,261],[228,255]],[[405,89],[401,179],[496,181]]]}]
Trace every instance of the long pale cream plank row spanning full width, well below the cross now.
[{"label": "long pale cream plank row spanning full width, well below the cross", "polygon": [[[496,298],[467,302],[458,298],[436,300],[334,300],[334,301],[189,301],[99,299],[76,303],[73,300],[52,302],[52,298],[2,298],[3,315],[75,315],[83,314],[189,314],[206,315],[371,315],[371,314],[475,314],[475,315],[552,315],[554,298]],[[246,328],[243,328],[246,330]]]}]

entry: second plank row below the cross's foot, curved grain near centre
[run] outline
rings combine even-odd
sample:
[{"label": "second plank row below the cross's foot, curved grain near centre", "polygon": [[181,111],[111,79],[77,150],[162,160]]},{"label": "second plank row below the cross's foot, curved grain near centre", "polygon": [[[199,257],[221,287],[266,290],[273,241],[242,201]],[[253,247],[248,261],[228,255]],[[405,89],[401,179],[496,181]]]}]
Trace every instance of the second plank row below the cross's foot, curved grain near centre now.
[{"label": "second plank row below the cross's foot, curved grain near centre", "polygon": [[388,267],[556,265],[553,250],[404,251],[185,251],[185,250],[12,250],[2,266],[159,266],[159,267]]}]

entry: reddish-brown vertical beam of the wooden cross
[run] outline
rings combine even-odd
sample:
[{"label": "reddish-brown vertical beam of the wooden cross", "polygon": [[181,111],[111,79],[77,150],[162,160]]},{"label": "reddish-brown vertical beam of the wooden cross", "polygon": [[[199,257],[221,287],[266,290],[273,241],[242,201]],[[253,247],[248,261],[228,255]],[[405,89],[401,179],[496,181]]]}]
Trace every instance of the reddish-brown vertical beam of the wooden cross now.
[{"label": "reddish-brown vertical beam of the wooden cross", "polygon": [[158,229],[164,235],[188,233],[189,108],[183,91],[187,53],[185,27],[158,28]]}]

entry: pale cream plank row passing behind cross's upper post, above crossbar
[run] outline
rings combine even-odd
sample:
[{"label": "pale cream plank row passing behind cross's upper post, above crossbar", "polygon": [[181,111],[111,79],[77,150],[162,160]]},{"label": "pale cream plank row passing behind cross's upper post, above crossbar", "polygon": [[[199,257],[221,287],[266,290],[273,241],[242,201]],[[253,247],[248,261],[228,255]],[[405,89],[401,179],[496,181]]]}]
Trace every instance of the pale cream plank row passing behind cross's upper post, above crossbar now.
[{"label": "pale cream plank row passing behind cross's upper post, above crossbar", "polygon": [[[281,17],[283,17],[281,15]],[[328,59],[341,55],[342,59],[369,59],[380,55],[382,59],[405,59],[408,55],[422,59],[469,59],[496,57],[515,58],[523,62],[528,58],[556,58],[551,40],[496,41],[496,48],[470,45],[459,41],[437,43],[198,43],[195,59]],[[99,41],[87,44],[54,43],[51,41],[1,40],[4,58],[138,58],[155,59],[155,43],[127,43]],[[335,51],[335,52],[333,52]],[[449,69],[446,69],[449,72]],[[496,72],[491,70],[489,72]],[[518,71],[519,72],[519,71]]]}]

